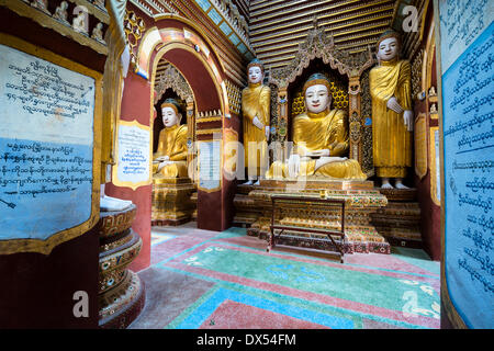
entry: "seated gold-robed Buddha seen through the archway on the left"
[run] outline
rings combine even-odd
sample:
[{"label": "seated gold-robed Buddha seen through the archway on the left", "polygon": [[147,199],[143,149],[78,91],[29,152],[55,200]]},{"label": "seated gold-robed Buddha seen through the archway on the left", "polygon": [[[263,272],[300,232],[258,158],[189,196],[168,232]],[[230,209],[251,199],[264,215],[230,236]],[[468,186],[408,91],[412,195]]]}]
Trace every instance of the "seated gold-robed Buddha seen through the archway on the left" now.
[{"label": "seated gold-robed Buddha seen through the archway on the left", "polygon": [[153,155],[153,174],[164,178],[188,177],[187,125],[180,125],[182,114],[175,99],[161,104],[165,128],[159,133],[158,149]]}]

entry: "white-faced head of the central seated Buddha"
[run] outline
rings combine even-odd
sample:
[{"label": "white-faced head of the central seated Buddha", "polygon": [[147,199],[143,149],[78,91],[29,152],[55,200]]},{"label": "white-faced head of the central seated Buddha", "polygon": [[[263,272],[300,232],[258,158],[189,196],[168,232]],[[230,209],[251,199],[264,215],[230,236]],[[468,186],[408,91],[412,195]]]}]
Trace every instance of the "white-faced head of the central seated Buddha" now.
[{"label": "white-faced head of the central seated Buddha", "polygon": [[321,113],[329,110],[332,95],[329,80],[322,73],[308,77],[304,84],[305,107],[311,113]]}]

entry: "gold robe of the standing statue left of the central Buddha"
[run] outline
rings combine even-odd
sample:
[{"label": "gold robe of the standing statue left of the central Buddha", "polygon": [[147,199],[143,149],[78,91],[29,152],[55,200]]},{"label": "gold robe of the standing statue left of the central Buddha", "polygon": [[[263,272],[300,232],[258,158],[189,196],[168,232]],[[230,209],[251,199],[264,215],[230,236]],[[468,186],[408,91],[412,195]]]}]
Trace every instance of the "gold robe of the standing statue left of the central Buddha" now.
[{"label": "gold robe of the standing statue left of the central Buddha", "polygon": [[[242,92],[245,167],[252,170],[257,168],[257,174],[260,174],[260,170],[266,169],[268,166],[268,141],[265,129],[255,126],[252,120],[257,116],[260,123],[269,125],[270,103],[271,89],[261,83],[249,84]],[[259,145],[258,143],[261,144]]]}]

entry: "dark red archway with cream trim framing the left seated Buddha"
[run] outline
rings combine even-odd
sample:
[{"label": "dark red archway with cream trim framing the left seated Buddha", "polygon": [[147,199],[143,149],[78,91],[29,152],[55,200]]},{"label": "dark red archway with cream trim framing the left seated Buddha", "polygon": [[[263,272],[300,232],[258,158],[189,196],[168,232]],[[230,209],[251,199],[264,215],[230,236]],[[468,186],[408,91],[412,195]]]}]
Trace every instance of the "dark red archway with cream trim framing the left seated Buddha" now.
[{"label": "dark red archway with cream trim framing the left seated Buddha", "polygon": [[[139,16],[137,9],[135,16]],[[144,16],[144,15],[143,15]],[[189,20],[178,15],[159,15],[145,19],[143,35],[132,52],[133,71],[124,81],[122,113],[120,121],[136,121],[153,129],[155,81],[158,63],[167,60],[183,76],[190,87],[192,99],[188,114],[194,115],[194,136],[199,157],[198,180],[198,228],[223,230],[229,227],[225,196],[231,184],[223,177],[223,126],[229,115],[224,67],[213,45]],[[159,77],[158,77],[159,79]],[[190,97],[189,97],[190,98]],[[149,144],[153,143],[150,138]],[[151,145],[150,145],[151,147]],[[206,152],[209,151],[209,152]],[[202,155],[209,155],[209,159]],[[194,163],[190,163],[194,167]],[[201,178],[203,172],[214,170],[212,179]],[[150,202],[151,184],[122,186],[112,179],[106,193],[120,199],[133,200],[137,205],[134,229],[143,238],[143,249],[136,259],[135,270],[150,262]]]}]

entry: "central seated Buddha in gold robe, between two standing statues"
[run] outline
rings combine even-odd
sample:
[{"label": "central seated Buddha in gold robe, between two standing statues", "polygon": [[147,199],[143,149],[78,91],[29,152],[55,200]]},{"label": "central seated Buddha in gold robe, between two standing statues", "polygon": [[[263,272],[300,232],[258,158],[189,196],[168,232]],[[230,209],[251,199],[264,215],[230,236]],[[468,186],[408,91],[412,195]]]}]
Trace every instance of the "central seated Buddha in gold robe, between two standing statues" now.
[{"label": "central seated Buddha in gold robe, between two standing statues", "polygon": [[303,87],[306,113],[293,121],[293,151],[290,158],[271,165],[266,178],[327,177],[366,180],[357,160],[345,157],[349,148],[346,113],[330,110],[329,80],[312,75]]}]

